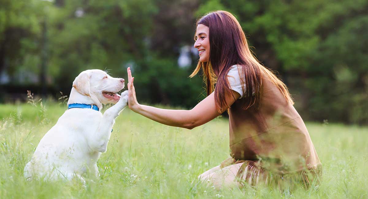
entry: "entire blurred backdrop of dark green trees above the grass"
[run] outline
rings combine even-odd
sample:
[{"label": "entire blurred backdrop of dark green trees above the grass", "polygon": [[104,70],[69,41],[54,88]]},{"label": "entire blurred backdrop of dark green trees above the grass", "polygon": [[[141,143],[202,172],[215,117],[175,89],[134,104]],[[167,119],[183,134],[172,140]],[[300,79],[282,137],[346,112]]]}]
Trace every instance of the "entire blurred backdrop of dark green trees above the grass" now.
[{"label": "entire blurred backdrop of dark green trees above the grass", "polygon": [[196,19],[236,15],[307,120],[368,124],[368,0],[0,0],[0,102],[68,95],[82,70],[134,70],[140,102],[204,98]]}]

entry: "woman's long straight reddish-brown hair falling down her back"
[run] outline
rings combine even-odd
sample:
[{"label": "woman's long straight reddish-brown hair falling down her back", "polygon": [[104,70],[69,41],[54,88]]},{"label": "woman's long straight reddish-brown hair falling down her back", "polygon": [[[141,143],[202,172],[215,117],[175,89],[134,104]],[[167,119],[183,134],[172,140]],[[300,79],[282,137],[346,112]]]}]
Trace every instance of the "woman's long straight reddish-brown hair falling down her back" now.
[{"label": "woman's long straight reddish-brown hair falling down her back", "polygon": [[[259,108],[262,95],[262,77],[266,77],[281,91],[288,103],[294,104],[286,85],[265,68],[251,53],[247,39],[237,19],[227,11],[214,11],[197,20],[199,24],[209,28],[209,61],[198,61],[197,68],[190,77],[195,76],[202,68],[207,95],[215,90],[217,111],[227,106],[226,97],[233,96],[227,73],[233,65],[241,66],[240,77],[244,93],[243,108],[255,105]],[[245,83],[245,88],[244,88]],[[216,84],[216,89],[215,89]],[[254,92],[254,94],[253,94]]]}]

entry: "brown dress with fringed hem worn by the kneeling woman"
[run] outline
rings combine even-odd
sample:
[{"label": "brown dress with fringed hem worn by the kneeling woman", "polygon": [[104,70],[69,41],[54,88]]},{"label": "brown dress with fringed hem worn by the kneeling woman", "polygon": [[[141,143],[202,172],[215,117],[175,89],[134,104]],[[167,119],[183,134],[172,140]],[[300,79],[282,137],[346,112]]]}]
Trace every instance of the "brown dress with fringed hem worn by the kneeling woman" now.
[{"label": "brown dress with fringed hem worn by the kneeling woman", "polygon": [[237,178],[251,185],[317,187],[322,164],[303,120],[272,82],[262,81],[259,109],[244,110],[240,100],[229,109],[232,158],[221,166],[245,162]]}]

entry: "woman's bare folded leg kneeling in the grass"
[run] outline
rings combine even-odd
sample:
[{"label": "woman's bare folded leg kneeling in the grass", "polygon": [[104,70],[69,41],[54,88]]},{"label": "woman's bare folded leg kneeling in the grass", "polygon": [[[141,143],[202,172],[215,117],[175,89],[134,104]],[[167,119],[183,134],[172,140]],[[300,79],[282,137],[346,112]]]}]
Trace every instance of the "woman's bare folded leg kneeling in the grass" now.
[{"label": "woman's bare folded leg kneeling in the grass", "polygon": [[[204,176],[203,178],[201,178],[201,180],[204,182],[209,180],[208,182],[212,183],[213,186],[215,186],[215,188],[217,189],[220,189],[222,187],[239,187],[241,186],[241,184],[236,180],[236,174],[238,173],[242,164],[244,164],[244,162],[232,164],[230,166],[224,167],[223,169],[218,169],[208,174],[207,176]],[[214,167],[213,169],[215,168],[216,167]]]}]

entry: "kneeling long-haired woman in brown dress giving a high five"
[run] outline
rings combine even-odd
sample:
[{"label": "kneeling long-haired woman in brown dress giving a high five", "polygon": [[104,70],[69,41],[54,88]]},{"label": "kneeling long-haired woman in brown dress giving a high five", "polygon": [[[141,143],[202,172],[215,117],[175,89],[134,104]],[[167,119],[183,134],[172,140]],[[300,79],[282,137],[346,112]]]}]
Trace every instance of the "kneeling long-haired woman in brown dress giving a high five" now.
[{"label": "kneeling long-haired woman in brown dress giving a high five", "polygon": [[231,158],[199,176],[217,188],[244,183],[281,189],[317,185],[322,166],[305,124],[286,85],[252,55],[237,19],[226,11],[200,18],[194,47],[199,62],[191,77],[202,68],[208,95],[204,100],[190,111],[140,105],[128,68],[129,108],[187,129],[228,110]]}]

